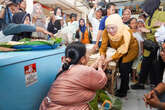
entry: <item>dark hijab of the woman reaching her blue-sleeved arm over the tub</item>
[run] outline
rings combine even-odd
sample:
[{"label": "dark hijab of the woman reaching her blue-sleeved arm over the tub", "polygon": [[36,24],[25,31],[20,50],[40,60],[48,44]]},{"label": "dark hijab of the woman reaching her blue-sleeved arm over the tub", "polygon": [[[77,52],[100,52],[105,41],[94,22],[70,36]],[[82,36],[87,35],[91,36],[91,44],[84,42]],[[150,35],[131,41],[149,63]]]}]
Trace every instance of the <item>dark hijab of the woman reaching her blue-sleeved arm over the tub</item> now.
[{"label": "dark hijab of the woman reaching her blue-sleeved arm over the tub", "polygon": [[[12,19],[12,23],[15,24],[24,24],[25,18],[26,17],[30,18],[30,14],[26,13],[26,12],[19,12],[14,14],[13,19]],[[31,20],[31,19],[30,19]],[[31,38],[32,32],[22,32],[19,34],[15,34],[12,41],[19,41],[23,38]]]}]

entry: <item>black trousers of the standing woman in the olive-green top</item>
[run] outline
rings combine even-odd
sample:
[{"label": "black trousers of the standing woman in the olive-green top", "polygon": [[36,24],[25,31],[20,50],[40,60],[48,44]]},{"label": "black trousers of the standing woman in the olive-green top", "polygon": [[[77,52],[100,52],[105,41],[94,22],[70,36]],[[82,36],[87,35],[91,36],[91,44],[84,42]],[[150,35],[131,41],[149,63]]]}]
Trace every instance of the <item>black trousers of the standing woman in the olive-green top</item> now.
[{"label": "black trousers of the standing woman in the olive-green top", "polygon": [[155,86],[162,82],[164,71],[164,62],[161,57],[159,60],[153,59],[150,57],[143,57],[139,83],[145,84],[147,81],[148,75],[150,75],[150,82]]}]

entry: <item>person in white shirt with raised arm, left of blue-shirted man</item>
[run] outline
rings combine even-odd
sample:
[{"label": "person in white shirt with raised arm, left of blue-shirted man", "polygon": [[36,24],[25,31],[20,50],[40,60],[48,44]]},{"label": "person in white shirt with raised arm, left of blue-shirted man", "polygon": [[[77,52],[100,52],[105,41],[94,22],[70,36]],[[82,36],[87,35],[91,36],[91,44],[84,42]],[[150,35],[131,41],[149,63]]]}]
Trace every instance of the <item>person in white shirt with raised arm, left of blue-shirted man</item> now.
[{"label": "person in white shirt with raised arm, left of blue-shirted man", "polygon": [[102,8],[97,7],[95,4],[94,7],[91,9],[88,20],[92,24],[92,43],[96,44],[97,40],[97,33],[99,31],[100,20],[102,18]]}]

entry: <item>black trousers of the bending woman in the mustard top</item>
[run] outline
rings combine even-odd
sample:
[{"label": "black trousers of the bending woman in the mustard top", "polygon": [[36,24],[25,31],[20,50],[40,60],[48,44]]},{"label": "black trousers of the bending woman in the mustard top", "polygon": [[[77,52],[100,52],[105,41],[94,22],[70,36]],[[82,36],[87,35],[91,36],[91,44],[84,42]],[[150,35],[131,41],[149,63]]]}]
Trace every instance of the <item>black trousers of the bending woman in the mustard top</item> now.
[{"label": "black trousers of the bending woman in the mustard top", "polygon": [[121,93],[127,94],[129,88],[129,73],[131,73],[132,62],[122,63],[119,61],[119,72],[121,74],[121,84],[120,91]]}]

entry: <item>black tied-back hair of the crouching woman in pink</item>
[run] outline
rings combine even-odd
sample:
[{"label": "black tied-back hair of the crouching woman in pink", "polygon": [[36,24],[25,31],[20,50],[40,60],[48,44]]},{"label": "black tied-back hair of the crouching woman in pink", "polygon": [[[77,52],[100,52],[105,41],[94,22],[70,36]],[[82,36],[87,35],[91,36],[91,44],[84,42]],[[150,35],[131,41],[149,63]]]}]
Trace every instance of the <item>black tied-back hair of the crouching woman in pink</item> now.
[{"label": "black tied-back hair of the crouching woman in pink", "polygon": [[85,56],[86,47],[81,42],[73,42],[69,44],[65,50],[65,58],[70,58],[71,62],[65,62],[62,65],[62,70],[57,74],[57,77],[67,71],[72,64],[78,64],[80,59]]}]

